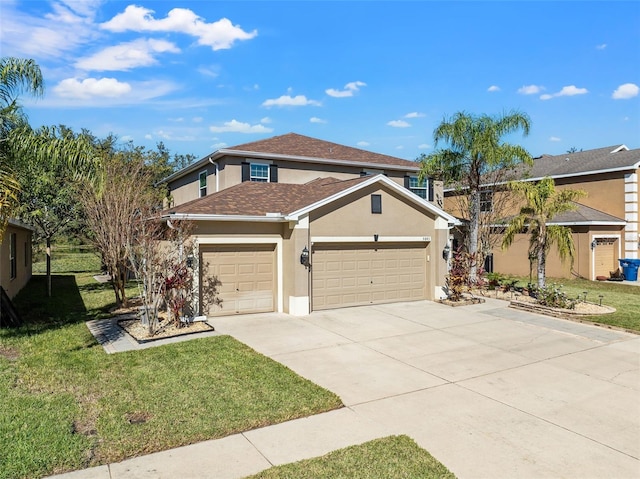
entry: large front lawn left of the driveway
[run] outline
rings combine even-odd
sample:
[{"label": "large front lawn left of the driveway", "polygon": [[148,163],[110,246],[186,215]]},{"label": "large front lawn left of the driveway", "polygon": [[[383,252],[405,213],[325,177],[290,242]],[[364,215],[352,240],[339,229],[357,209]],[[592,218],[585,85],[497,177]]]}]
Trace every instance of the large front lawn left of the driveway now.
[{"label": "large front lawn left of the driveway", "polygon": [[0,330],[0,479],[120,461],[341,406],[228,336],[107,355],[84,322],[107,316],[114,295],[92,278],[99,261],[89,255],[54,256],[54,271],[75,272],[54,275],[53,298],[34,276],[15,300],[26,325]]}]

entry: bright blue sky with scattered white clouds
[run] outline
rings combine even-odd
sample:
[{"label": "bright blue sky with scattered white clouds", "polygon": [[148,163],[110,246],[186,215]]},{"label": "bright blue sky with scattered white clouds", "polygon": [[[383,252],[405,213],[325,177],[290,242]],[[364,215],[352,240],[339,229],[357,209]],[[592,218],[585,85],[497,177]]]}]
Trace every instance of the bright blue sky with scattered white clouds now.
[{"label": "bright blue sky with scattered white clouds", "polygon": [[33,126],[202,157],[303,135],[413,160],[457,111],[532,120],[534,156],[640,148],[640,2],[0,0],[41,66]]}]

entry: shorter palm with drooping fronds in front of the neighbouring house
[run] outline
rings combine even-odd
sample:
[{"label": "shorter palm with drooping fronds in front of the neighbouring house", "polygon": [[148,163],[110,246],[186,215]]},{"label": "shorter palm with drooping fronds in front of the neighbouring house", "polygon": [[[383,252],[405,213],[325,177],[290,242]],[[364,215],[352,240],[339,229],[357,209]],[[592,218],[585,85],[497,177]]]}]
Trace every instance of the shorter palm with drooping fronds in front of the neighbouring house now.
[{"label": "shorter palm with drooping fronds in front of the neighbouring house", "polygon": [[560,259],[570,259],[573,264],[575,247],[571,229],[561,225],[549,224],[560,213],[576,209],[574,200],[585,196],[581,190],[556,190],[552,178],[543,178],[538,183],[511,182],[514,191],[524,200],[517,216],[508,223],[502,238],[502,248],[513,244],[516,235],[529,232],[529,256],[535,257],[538,266],[538,288],[546,285],[547,255],[553,245]]}]

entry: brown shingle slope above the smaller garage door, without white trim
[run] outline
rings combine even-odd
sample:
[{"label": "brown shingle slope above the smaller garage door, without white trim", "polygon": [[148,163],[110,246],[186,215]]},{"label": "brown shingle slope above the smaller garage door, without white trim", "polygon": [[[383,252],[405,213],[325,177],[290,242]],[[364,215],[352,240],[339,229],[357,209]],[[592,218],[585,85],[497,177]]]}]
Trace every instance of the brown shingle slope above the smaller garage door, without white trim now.
[{"label": "brown shingle slope above the smaller garage door, without white trim", "polygon": [[265,216],[267,213],[289,214],[344,191],[366,179],[367,177],[352,180],[318,178],[304,184],[245,181],[218,193],[170,208],[164,214],[231,216]]}]

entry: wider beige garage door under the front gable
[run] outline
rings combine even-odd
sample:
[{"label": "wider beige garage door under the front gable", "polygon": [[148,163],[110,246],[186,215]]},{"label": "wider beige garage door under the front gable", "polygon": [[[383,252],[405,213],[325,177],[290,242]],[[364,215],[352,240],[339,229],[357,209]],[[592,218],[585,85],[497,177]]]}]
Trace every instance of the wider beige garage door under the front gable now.
[{"label": "wider beige garage door under the front gable", "polygon": [[314,310],[426,298],[426,248],[407,245],[314,245]]}]

